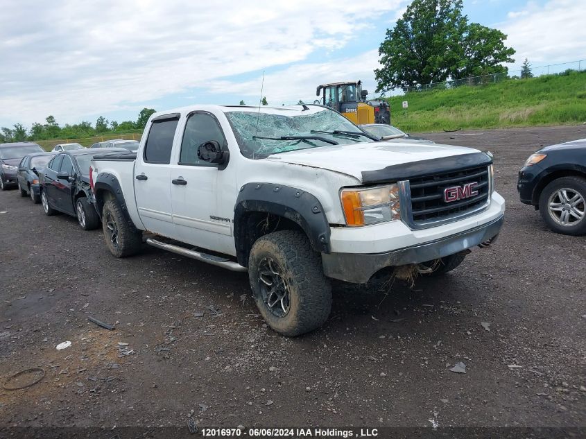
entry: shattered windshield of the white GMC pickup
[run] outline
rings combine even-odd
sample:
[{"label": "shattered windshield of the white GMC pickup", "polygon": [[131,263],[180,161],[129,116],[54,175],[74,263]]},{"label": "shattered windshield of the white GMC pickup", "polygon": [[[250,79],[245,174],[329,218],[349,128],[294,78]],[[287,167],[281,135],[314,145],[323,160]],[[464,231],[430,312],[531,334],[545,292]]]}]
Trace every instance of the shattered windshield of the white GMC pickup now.
[{"label": "shattered windshield of the white GMC pickup", "polygon": [[[254,110],[225,113],[245,157],[261,159],[275,153],[329,146],[332,143],[353,144],[371,141],[359,135],[334,134],[335,130],[356,133],[361,131],[345,117],[322,107],[302,110],[300,106],[299,110],[284,110],[283,113],[286,114],[259,113]],[[270,137],[270,139],[261,139],[261,137]],[[288,139],[281,139],[281,137],[288,137]],[[291,139],[291,137],[311,137],[311,139]]]}]

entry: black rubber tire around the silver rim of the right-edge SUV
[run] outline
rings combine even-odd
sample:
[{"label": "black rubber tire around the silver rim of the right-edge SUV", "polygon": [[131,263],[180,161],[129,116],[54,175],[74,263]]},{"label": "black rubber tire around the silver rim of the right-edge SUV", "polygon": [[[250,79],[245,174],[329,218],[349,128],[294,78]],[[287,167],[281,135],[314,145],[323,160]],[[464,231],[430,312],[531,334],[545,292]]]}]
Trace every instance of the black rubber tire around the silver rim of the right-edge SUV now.
[{"label": "black rubber tire around the silver rim of the right-edge SUV", "polygon": [[[586,234],[586,215],[574,225],[561,225],[557,223],[549,211],[549,197],[559,189],[568,188],[580,193],[583,200],[586,200],[586,178],[582,177],[561,177],[550,182],[540,193],[540,214],[547,227],[555,233],[568,235]],[[584,207],[582,207],[584,209]]]}]

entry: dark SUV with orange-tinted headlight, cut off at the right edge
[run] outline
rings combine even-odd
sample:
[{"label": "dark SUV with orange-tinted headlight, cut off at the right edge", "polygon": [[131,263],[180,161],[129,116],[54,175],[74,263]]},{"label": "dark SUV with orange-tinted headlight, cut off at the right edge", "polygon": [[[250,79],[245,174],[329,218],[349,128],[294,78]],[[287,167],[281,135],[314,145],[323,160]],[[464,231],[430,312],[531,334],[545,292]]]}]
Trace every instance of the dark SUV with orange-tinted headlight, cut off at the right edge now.
[{"label": "dark SUV with orange-tinted headlight, cut off at the right edge", "polygon": [[586,234],[586,139],[546,146],[519,171],[522,203],[539,209],[546,225],[562,234]]}]

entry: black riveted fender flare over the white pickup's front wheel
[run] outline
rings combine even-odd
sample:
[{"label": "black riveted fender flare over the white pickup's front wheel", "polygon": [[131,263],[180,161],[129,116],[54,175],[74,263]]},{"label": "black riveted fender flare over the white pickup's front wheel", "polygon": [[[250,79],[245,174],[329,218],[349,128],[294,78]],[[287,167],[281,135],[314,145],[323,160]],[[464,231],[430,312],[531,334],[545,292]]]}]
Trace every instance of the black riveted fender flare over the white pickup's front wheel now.
[{"label": "black riveted fender flare over the white pickup's front wheel", "polygon": [[[240,188],[234,207],[234,243],[239,264],[248,266],[252,243],[248,236],[248,212],[282,216],[298,224],[307,234],[313,250],[330,252],[330,229],[323,207],[311,193],[273,183],[247,183]],[[247,250],[248,248],[248,250]]]}]

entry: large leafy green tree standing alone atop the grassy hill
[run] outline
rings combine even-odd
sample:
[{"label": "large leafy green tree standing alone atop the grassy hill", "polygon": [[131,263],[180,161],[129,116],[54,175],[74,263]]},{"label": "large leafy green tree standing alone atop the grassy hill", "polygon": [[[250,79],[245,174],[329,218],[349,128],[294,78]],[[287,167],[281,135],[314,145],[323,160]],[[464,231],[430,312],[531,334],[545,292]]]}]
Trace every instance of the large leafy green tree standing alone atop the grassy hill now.
[{"label": "large leafy green tree standing alone atop the grassy hill", "polygon": [[506,35],[468,24],[462,8],[462,0],[414,0],[379,47],[377,92],[506,71],[500,63],[515,53]]}]

